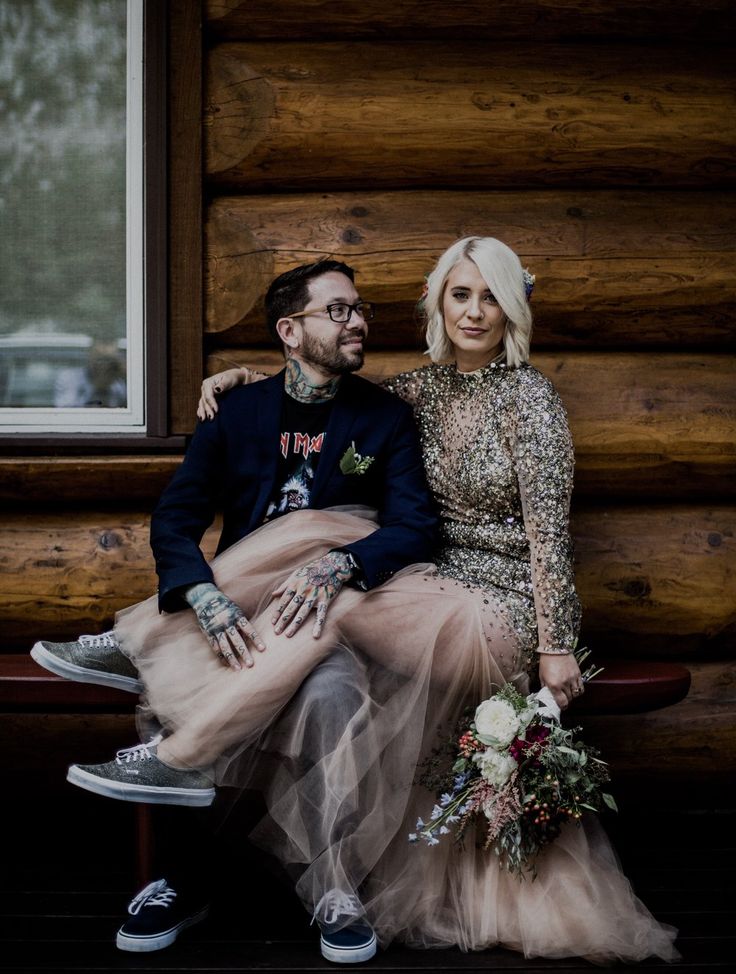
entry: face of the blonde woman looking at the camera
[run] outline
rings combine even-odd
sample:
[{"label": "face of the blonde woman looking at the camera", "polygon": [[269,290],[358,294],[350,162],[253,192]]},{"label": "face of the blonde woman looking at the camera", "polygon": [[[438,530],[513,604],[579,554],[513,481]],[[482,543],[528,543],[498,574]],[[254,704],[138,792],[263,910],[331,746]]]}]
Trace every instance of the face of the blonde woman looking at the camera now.
[{"label": "face of the blonde woman looking at the camera", "polygon": [[482,368],[501,351],[506,315],[469,257],[447,277],[442,314],[461,372]]}]

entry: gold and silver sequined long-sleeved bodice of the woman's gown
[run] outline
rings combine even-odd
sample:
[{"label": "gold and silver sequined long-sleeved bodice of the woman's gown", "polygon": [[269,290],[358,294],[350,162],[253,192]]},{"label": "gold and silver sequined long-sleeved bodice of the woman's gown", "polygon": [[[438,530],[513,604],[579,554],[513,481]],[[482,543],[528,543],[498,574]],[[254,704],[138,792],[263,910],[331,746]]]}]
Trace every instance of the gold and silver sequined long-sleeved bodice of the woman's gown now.
[{"label": "gold and silver sequined long-sleeved bodice of the woman's gown", "polygon": [[441,523],[437,568],[504,606],[529,668],[577,641],[569,531],[574,456],[562,402],[533,366],[429,365],[386,380],[414,407]]}]

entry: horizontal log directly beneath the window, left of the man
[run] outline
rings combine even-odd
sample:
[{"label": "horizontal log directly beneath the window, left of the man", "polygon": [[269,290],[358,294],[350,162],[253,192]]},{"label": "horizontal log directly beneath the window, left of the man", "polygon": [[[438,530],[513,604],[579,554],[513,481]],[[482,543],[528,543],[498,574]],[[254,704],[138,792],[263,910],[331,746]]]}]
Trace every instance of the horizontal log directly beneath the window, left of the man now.
[{"label": "horizontal log directly beneath the window, left of the man", "polygon": [[[194,404],[190,420],[194,419]],[[181,455],[0,457],[0,501],[15,504],[155,503]]]}]

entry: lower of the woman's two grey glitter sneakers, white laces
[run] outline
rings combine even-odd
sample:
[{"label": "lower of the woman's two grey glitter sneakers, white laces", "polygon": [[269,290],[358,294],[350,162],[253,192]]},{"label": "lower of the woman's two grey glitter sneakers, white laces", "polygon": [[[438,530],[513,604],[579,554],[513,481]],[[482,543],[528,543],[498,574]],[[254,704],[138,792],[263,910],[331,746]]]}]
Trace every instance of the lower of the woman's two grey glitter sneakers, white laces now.
[{"label": "lower of the woman's two grey glitter sneakers, white laces", "polygon": [[211,805],[212,781],[194,768],[172,768],[156,757],[161,735],[125,747],[105,764],[73,764],[66,780],[106,798],[150,805]]}]

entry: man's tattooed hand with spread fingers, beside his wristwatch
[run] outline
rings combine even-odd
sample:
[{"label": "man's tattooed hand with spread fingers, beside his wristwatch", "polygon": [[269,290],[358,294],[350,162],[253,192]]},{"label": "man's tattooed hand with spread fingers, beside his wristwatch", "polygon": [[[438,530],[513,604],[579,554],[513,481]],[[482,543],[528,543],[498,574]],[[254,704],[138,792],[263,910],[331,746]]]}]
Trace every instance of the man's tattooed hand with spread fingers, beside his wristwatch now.
[{"label": "man's tattooed hand with spread fingers, beside his wristwatch", "polygon": [[330,604],[352,577],[350,558],[344,551],[330,551],[292,572],[273,593],[274,596],[282,596],[271,619],[275,631],[281,633],[286,629],[286,635],[293,636],[316,607],[317,619],[312,635],[319,639]]}]

